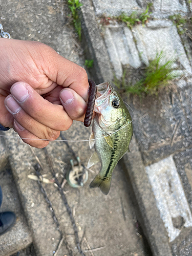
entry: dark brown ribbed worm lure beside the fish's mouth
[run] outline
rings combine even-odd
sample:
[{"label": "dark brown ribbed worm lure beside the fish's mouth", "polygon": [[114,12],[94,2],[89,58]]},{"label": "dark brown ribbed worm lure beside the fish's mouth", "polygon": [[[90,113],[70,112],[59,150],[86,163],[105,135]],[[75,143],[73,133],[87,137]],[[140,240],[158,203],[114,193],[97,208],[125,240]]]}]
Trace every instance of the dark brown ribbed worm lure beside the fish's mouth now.
[{"label": "dark brown ribbed worm lure beside the fish's mouth", "polygon": [[94,105],[95,105],[95,99],[96,99],[96,94],[97,94],[96,83],[91,79],[88,79],[88,82],[89,82],[89,86],[90,86],[90,92],[89,92],[86,115],[84,116],[84,126],[86,126],[86,127],[89,127],[91,124]]}]

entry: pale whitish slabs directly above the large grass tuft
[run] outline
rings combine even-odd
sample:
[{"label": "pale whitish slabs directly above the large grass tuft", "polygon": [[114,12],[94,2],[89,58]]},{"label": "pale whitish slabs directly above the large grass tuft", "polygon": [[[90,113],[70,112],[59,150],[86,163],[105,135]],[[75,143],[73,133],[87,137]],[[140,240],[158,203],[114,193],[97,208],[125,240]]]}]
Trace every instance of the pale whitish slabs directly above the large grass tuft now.
[{"label": "pale whitish slabs directly above the large grass tuft", "polygon": [[122,65],[137,69],[141,66],[141,60],[148,65],[161,52],[164,62],[175,60],[173,67],[179,74],[186,77],[192,74],[180,36],[170,20],[151,20],[147,26],[134,27],[133,33],[125,25],[118,24],[105,26],[103,31],[106,49],[118,79],[123,74]]}]

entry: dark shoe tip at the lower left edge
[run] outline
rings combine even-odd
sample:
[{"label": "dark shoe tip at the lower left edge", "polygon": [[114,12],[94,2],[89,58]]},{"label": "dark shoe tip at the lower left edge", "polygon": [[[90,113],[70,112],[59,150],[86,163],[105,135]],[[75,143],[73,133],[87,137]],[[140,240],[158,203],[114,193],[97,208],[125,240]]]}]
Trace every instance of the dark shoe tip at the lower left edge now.
[{"label": "dark shoe tip at the lower left edge", "polygon": [[16,221],[16,216],[12,211],[1,212],[0,214],[0,236],[12,228]]}]

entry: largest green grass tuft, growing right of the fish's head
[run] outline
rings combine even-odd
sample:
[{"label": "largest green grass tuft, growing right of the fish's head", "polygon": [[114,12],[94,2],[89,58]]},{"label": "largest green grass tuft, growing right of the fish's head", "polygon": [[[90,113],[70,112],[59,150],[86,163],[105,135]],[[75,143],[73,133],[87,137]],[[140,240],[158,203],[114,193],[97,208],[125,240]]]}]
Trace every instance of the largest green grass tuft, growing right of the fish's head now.
[{"label": "largest green grass tuft, growing right of the fish's head", "polygon": [[[144,68],[142,78],[135,82],[134,85],[129,82],[126,84],[125,74],[121,81],[115,78],[114,83],[118,88],[123,89],[127,94],[144,96],[147,94],[157,95],[159,90],[166,87],[170,82],[179,78],[179,74],[174,70],[173,64],[175,60],[163,61],[165,58],[163,52],[157,54],[154,60],[151,60],[149,65]],[[162,64],[164,62],[164,64]]]}]

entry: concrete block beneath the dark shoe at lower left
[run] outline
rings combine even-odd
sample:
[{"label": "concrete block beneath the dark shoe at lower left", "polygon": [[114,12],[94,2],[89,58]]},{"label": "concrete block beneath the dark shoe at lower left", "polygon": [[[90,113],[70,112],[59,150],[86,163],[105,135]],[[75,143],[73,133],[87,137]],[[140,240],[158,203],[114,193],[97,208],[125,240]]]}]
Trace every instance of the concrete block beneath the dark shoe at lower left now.
[{"label": "concrete block beneath the dark shoe at lower left", "polygon": [[9,256],[28,247],[32,243],[32,236],[19,202],[9,164],[0,173],[0,185],[3,191],[0,211],[14,211],[17,217],[13,228],[0,237],[0,255]]}]

